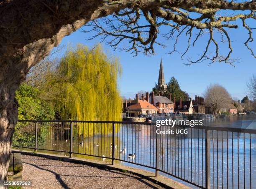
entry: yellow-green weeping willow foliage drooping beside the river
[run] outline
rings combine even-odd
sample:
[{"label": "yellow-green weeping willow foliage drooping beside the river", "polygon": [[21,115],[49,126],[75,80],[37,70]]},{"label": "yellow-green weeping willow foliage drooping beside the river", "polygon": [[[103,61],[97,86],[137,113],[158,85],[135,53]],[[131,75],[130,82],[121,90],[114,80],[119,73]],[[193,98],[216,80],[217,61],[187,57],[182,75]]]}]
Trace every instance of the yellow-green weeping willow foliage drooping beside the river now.
[{"label": "yellow-green weeping willow foliage drooping beside the river", "polygon": [[[92,50],[77,45],[69,48],[57,70],[66,78],[61,82],[62,94],[57,102],[62,119],[122,119],[122,98],[118,90],[121,67],[116,57],[108,58],[100,45]],[[97,132],[97,127],[95,129]],[[81,130],[84,129],[80,128],[79,134]]]}]

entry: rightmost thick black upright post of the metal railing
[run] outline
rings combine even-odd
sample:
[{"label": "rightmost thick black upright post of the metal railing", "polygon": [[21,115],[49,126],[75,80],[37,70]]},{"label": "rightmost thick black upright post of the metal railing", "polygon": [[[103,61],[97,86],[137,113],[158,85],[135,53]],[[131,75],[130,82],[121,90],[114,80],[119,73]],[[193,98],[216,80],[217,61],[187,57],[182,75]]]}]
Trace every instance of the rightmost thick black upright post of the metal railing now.
[{"label": "rightmost thick black upright post of the metal railing", "polygon": [[210,130],[206,129],[205,132],[205,188],[210,189]]}]

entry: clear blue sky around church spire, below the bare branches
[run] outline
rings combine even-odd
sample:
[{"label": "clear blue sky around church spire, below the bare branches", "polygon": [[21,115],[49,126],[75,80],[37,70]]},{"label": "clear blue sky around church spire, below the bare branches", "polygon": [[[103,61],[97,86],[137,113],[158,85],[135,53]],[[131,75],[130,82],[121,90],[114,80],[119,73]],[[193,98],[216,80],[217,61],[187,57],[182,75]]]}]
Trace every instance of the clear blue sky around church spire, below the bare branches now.
[{"label": "clear blue sky around church spire, below the bare branches", "polygon": [[[84,29],[87,29],[86,26]],[[160,31],[166,32],[168,29],[160,28]],[[60,45],[67,47],[68,44],[76,45],[77,43],[82,43],[92,47],[100,42],[99,37],[89,41],[86,40],[87,37],[88,34],[78,30],[64,37]],[[248,37],[248,34],[243,28],[230,30],[230,38],[233,41],[233,58],[240,58],[238,63],[234,63],[235,67],[218,62],[210,66],[208,66],[207,62],[189,66],[184,65],[184,63],[187,63],[188,56],[195,60],[197,55],[202,53],[203,47],[205,47],[207,42],[205,37],[202,37],[197,45],[189,50],[183,60],[178,53],[167,54],[167,52],[172,50],[174,41],[165,40],[160,35],[158,39],[166,44],[166,48],[163,49],[156,46],[156,55],[151,56],[139,54],[133,57],[133,54],[129,52],[113,51],[104,42],[102,42],[102,46],[108,55],[115,55],[120,58],[123,72],[119,80],[119,88],[121,95],[126,98],[134,98],[135,94],[140,90],[151,91],[158,80],[159,65],[162,57],[165,82],[168,82],[174,76],[178,80],[181,89],[186,91],[193,99],[195,95],[202,95],[208,85],[215,83],[223,85],[232,97],[242,99],[246,95],[246,82],[248,82],[253,74],[256,75],[256,59],[251,56],[250,52],[243,45],[243,42],[247,39],[246,37]],[[220,36],[216,35],[216,39],[220,39]],[[181,52],[184,52],[186,49],[187,41],[186,36],[180,38],[178,47]],[[57,55],[58,57],[63,55],[66,47]],[[220,45],[220,52],[223,52],[223,54],[227,53],[226,47],[227,43]],[[256,42],[251,43],[250,47],[256,51]],[[213,48],[212,51],[214,51]]]}]

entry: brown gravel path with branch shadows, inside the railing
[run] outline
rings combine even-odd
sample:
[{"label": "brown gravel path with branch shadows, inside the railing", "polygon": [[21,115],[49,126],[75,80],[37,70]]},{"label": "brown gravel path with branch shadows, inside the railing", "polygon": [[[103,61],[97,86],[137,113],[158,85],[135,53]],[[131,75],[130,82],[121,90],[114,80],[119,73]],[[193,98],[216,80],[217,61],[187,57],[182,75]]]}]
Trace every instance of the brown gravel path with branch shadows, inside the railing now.
[{"label": "brown gravel path with branch shadows, inside the railing", "polygon": [[22,155],[21,158],[23,161],[23,180],[31,180],[33,188],[162,188],[147,179],[126,172],[37,156]]}]

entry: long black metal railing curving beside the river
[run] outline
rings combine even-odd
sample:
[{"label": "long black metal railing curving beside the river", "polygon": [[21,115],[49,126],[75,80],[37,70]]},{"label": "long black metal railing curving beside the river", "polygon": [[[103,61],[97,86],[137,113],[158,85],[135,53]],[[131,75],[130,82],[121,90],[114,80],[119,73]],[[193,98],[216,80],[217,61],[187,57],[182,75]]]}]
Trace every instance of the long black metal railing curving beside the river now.
[{"label": "long black metal railing curving beside the river", "polygon": [[111,159],[112,164],[128,162],[200,188],[255,186],[256,130],[195,126],[186,128],[187,134],[156,134],[156,129],[172,127],[145,122],[20,120],[13,146],[66,152],[70,157],[100,157]]}]

